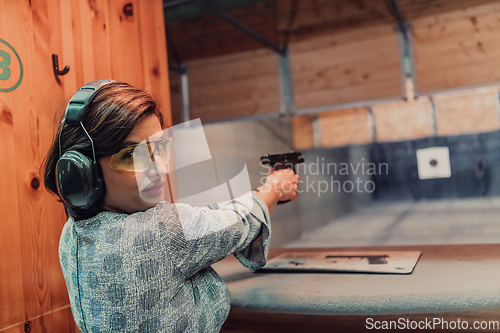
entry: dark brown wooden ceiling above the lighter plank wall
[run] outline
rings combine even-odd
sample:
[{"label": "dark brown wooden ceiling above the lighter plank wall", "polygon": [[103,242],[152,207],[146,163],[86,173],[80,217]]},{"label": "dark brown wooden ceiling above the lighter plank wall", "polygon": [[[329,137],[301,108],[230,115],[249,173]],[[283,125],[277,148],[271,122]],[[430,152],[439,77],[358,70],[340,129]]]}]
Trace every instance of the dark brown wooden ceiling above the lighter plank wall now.
[{"label": "dark brown wooden ceiling above the lighter plank wall", "polygon": [[[402,16],[422,16],[499,0],[398,0]],[[190,4],[192,6],[192,4]],[[169,9],[167,8],[166,11]],[[276,45],[343,29],[396,24],[388,0],[264,0],[228,10]],[[212,14],[167,23],[170,63],[262,48],[262,44]]]}]

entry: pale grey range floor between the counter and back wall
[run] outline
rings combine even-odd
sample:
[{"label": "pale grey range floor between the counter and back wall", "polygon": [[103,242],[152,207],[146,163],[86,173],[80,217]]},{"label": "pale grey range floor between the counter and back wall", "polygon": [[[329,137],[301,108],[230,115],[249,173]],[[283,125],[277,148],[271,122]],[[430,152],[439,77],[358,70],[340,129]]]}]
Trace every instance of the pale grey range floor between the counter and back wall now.
[{"label": "pale grey range floor between the counter and back wall", "polygon": [[374,203],[283,247],[500,243],[500,197]]}]

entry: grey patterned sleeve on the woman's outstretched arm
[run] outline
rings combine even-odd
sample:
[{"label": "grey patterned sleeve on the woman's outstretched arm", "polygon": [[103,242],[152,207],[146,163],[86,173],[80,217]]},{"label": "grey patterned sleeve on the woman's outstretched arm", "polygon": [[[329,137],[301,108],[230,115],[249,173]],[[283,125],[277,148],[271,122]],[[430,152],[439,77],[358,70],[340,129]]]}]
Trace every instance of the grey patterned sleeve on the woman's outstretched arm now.
[{"label": "grey patterned sleeve on the woman's outstretched arm", "polygon": [[232,253],[247,268],[266,263],[271,220],[251,192],[212,208],[161,202],[155,210],[171,260],[185,277]]}]

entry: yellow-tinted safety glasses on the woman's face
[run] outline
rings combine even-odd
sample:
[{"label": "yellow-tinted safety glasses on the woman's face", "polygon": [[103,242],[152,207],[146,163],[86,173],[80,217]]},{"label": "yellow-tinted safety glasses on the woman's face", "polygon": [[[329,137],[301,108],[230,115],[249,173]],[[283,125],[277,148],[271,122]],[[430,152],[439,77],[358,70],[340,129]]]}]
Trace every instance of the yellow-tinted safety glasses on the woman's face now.
[{"label": "yellow-tinted safety glasses on the woman's face", "polygon": [[164,138],[121,148],[111,156],[111,168],[118,171],[145,171],[155,160],[156,153],[166,165],[170,161],[171,146],[172,138]]}]

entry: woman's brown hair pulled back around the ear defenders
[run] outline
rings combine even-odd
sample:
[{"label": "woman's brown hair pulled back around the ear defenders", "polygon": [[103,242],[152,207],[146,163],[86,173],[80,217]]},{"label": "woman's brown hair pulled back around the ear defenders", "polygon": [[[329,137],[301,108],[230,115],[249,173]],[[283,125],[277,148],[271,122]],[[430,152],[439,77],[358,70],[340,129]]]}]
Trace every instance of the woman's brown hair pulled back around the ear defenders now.
[{"label": "woman's brown hair pulled back around the ear defenders", "polygon": [[[88,105],[83,120],[85,129],[94,141],[96,159],[114,154],[135,125],[151,114],[156,115],[161,128],[165,128],[158,103],[151,94],[120,81],[113,81],[101,87]],[[82,127],[61,122],[42,164],[45,188],[58,197],[56,164],[60,157],[59,143],[61,154],[76,150],[93,160],[92,145]],[[99,177],[102,177],[99,163],[97,167]],[[100,200],[88,209],[67,205],[65,208],[75,220],[81,220],[100,213],[102,205],[103,200]]]}]

